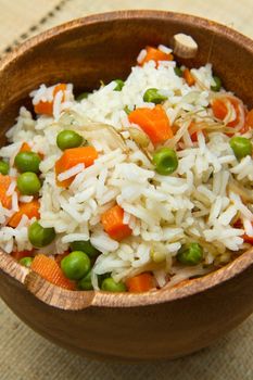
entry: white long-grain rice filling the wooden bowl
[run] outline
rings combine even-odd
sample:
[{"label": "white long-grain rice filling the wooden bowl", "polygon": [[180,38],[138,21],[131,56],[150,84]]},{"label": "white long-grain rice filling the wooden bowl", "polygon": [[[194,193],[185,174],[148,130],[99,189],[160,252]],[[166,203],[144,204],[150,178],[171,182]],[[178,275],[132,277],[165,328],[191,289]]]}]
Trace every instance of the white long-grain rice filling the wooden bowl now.
[{"label": "white long-grain rice filling the wooden bowl", "polygon": [[[253,160],[248,155],[237,161],[230,138],[219,131],[220,123],[214,119],[210,106],[212,66],[191,69],[197,83],[189,87],[175,74],[175,65],[174,61],[164,61],[155,67],[150,61],[143,67],[135,66],[122,91],[114,91],[116,83],[111,81],[80,102],[73,96],[73,86],[67,85],[64,94],[60,91],[54,99],[53,117],[34,119],[22,107],[16,124],[7,134],[10,144],[0,150],[1,157],[11,164],[24,141],[34,152],[43,154],[40,224],[54,227],[56,239],[38,252],[61,254],[72,241],[90,239],[102,252],[92,269],[94,289],[98,275],[111,273],[119,281],[146,270],[153,271],[159,287],[169,279],[173,286],[228,263],[245,249],[243,233],[253,237]],[[168,98],[163,107],[170,124],[178,127],[174,138],[165,143],[179,147],[179,165],[170,176],[154,172],[149,159],[154,151],[151,142],[147,153],[130,138],[129,128],[139,127],[130,125],[125,107],[152,109],[153,103],[143,101],[149,88],[157,88]],[[50,101],[52,93],[53,87],[41,85],[31,93],[33,103]],[[231,110],[225,125],[235,118]],[[199,131],[198,141],[192,142],[188,131],[192,119],[214,126],[208,130],[207,141]],[[55,139],[59,131],[69,127],[97,149],[99,157],[90,167],[79,164],[61,174],[59,180],[75,175],[69,188],[64,189],[55,183],[54,163],[62,154]],[[244,136],[251,138],[252,132]],[[11,168],[10,175],[16,177],[15,168]],[[7,225],[18,210],[14,179],[8,193],[12,195],[12,208],[0,204],[0,248],[7,253],[31,250],[27,228],[33,219],[23,216],[15,229]],[[23,195],[20,201],[31,199]],[[124,223],[132,229],[131,237],[122,242],[111,239],[100,221],[101,214],[115,203],[124,210]],[[232,225],[238,217],[241,228]],[[203,263],[188,268],[179,266],[175,261],[177,252],[182,244],[193,241],[204,249]],[[164,255],[162,264],[153,259],[156,253]]]}]

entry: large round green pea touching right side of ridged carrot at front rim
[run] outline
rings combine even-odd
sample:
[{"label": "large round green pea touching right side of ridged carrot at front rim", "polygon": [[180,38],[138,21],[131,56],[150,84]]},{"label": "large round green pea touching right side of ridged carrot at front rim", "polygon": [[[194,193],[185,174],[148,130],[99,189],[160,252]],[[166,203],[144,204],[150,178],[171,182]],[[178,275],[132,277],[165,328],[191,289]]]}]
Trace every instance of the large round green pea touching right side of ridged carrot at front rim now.
[{"label": "large round green pea touching right side of ridged carrot at front rim", "polygon": [[71,280],[80,280],[90,270],[89,256],[81,251],[73,251],[62,259],[61,268]]}]

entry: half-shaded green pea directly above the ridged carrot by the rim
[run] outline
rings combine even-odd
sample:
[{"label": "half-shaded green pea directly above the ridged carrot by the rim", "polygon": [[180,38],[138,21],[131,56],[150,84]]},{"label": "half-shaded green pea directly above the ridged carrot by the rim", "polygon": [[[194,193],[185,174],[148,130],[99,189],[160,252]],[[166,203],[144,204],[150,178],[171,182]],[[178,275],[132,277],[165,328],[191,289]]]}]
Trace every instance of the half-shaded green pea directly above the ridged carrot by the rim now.
[{"label": "half-shaded green pea directly above the ridged carrot by the rim", "polygon": [[35,248],[46,246],[50,244],[54,238],[54,228],[45,228],[38,221],[34,221],[28,228],[28,239]]}]

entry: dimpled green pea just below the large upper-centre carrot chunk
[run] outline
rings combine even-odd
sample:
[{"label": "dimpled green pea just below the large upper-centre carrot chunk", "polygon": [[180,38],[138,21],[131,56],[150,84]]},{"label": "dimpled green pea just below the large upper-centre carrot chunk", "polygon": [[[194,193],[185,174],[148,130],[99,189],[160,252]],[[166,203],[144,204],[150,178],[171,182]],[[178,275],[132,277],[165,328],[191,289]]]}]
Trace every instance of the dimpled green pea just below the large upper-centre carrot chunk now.
[{"label": "dimpled green pea just below the large upper-centre carrot chunk", "polygon": [[162,176],[167,176],[178,167],[177,154],[170,148],[161,148],[154,152],[153,164],[155,166],[155,172]]}]

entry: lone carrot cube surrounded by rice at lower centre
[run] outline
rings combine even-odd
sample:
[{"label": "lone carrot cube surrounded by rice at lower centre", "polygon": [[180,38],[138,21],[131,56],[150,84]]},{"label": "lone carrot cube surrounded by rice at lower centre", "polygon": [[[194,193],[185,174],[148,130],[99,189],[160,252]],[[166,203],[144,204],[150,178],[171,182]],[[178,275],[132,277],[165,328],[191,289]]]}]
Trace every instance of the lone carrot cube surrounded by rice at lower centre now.
[{"label": "lone carrot cube surrounded by rice at lower centre", "polygon": [[124,211],[118,205],[105,211],[101,216],[103,229],[115,240],[123,240],[131,235],[131,229],[123,223]]}]

